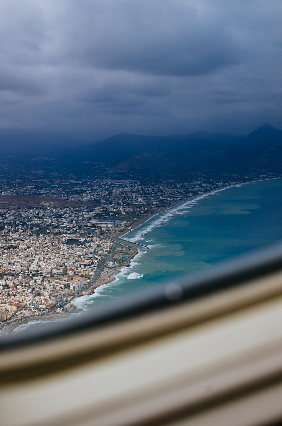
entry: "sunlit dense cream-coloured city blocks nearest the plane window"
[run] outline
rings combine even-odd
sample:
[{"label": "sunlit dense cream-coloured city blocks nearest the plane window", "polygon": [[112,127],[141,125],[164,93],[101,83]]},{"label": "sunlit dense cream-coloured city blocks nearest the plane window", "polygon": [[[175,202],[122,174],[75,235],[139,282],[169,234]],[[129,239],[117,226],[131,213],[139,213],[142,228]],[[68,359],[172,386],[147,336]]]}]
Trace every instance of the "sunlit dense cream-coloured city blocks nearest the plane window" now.
[{"label": "sunlit dense cream-coloured city blocks nearest the plane window", "polygon": [[2,237],[0,321],[56,308],[58,296],[83,290],[112,247],[108,239],[79,234],[73,239],[82,245],[66,244],[66,236],[13,232]]}]

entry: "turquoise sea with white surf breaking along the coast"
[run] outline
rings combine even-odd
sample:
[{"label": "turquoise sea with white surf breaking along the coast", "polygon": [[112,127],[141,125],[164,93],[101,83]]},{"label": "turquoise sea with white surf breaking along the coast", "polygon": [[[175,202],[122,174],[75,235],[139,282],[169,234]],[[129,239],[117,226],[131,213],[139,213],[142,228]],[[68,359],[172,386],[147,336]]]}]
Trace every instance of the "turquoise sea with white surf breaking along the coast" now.
[{"label": "turquoise sea with white surf breaking along the coast", "polygon": [[[118,270],[115,281],[73,301],[98,304],[209,268],[224,259],[282,240],[282,178],[238,184],[197,196],[151,217],[123,238],[147,245]],[[20,325],[15,332],[38,323]]]}]

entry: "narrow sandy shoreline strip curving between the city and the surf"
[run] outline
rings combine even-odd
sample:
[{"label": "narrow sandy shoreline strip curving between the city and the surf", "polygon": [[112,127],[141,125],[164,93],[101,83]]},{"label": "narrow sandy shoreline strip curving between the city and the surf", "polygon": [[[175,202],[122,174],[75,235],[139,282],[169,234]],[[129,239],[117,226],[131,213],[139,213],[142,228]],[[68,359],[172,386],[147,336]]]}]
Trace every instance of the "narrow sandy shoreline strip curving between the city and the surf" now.
[{"label": "narrow sandy shoreline strip curving between the city and the surf", "polygon": [[[215,194],[217,192],[232,188],[232,187],[236,187],[237,185],[245,185],[245,184],[249,184],[249,183],[256,183],[256,182],[262,182],[262,181],[267,181],[267,180],[272,180],[272,179],[278,179],[278,177],[275,178],[267,178],[267,179],[257,179],[257,180],[251,180],[251,181],[245,181],[245,182],[237,182],[231,185],[226,185],[217,189],[213,189],[204,193],[199,193],[195,196],[190,196],[188,198],[185,198],[181,201],[173,201],[170,203],[170,205],[163,207],[159,210],[156,210],[153,214],[147,214],[144,215],[144,217],[142,219],[139,219],[136,222],[133,222],[132,226],[130,227],[129,230],[126,230],[124,232],[120,231],[118,233],[113,234],[112,236],[114,236],[115,238],[121,238],[124,237],[125,235],[127,235],[127,233],[131,232],[132,230],[136,229],[137,227],[140,227],[141,225],[143,225],[144,223],[146,223],[147,221],[149,221],[150,219],[152,219],[154,216],[157,216],[160,213],[163,213],[166,210],[170,210],[171,208],[178,206],[180,204],[184,204],[187,201],[197,201],[197,199],[199,199],[199,197],[206,197],[208,195],[212,195]],[[124,244],[124,243],[122,243]],[[135,257],[137,254],[139,253],[139,250],[136,248],[136,252],[132,254],[132,256],[129,257],[127,265],[122,265],[120,267],[117,268],[109,268],[109,267],[104,267],[103,271],[101,272],[101,276],[98,278],[98,280],[95,282],[95,284],[91,285],[87,290],[82,290],[80,291],[78,294],[69,296],[66,295],[65,296],[65,301],[66,302],[72,302],[74,299],[77,299],[78,297],[81,296],[91,296],[91,294],[93,293],[93,291],[100,287],[101,285],[104,284],[109,284],[110,282],[115,281],[115,273],[117,273],[118,269],[122,269],[122,268],[127,268],[130,266],[130,262],[133,259],[133,257]],[[106,271],[104,271],[106,269]],[[103,276],[103,272],[104,272],[104,276]],[[6,327],[3,327],[2,333],[3,334],[8,334],[11,333],[15,328],[19,327],[20,325],[26,324],[28,322],[32,322],[32,321],[42,321],[42,320],[57,320],[60,318],[67,318],[69,317],[71,314],[75,313],[75,312],[82,312],[83,309],[80,308],[76,308],[75,305],[72,305],[71,309],[68,312],[64,312],[63,314],[59,314],[59,313],[44,313],[42,314],[42,317],[30,317],[30,318],[23,318],[23,320],[20,320],[19,322],[17,322],[17,324],[15,323],[10,323],[8,324]]]}]

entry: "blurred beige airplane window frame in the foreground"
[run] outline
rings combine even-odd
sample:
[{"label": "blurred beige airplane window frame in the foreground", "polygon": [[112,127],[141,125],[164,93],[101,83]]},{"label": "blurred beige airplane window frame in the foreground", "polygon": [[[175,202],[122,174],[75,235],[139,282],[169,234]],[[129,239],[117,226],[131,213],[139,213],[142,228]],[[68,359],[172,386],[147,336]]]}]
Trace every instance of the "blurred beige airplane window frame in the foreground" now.
[{"label": "blurred beige airplane window frame in the foreground", "polygon": [[[278,254],[275,262],[264,261],[268,265],[264,269],[253,258],[248,269],[246,262],[242,269],[238,263],[237,275],[234,265],[223,272],[219,268],[221,289],[206,295],[182,300],[178,287],[173,294],[168,286],[164,291],[170,303],[156,310],[137,310],[120,320],[93,322],[85,329],[26,344],[4,340],[1,425],[279,422],[282,256],[279,262]],[[211,274],[213,279],[216,273]],[[174,296],[181,300],[175,303]]]}]

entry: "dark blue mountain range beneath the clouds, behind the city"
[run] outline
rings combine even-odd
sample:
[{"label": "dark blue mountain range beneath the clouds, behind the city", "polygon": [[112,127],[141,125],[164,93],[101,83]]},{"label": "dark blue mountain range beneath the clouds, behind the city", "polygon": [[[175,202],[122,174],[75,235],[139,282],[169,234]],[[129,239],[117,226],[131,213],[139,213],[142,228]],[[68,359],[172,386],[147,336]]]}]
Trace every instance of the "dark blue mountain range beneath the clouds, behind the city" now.
[{"label": "dark blue mountain range beneath the clouds, behind the city", "polygon": [[[1,132],[0,138],[9,141],[7,134]],[[269,124],[239,137],[202,131],[171,136],[121,133],[89,145],[68,145],[67,140],[60,144],[60,138],[48,144],[47,136],[45,138],[44,144],[35,144],[31,138],[28,149],[18,150],[11,143],[10,137],[10,142],[2,144],[5,149],[0,149],[1,162],[22,162],[29,164],[32,169],[39,167],[41,170],[61,173],[71,170],[78,175],[94,175],[101,169],[109,173],[135,173],[142,176],[282,172],[282,130]],[[20,135],[14,136],[13,140],[17,143]]]}]

